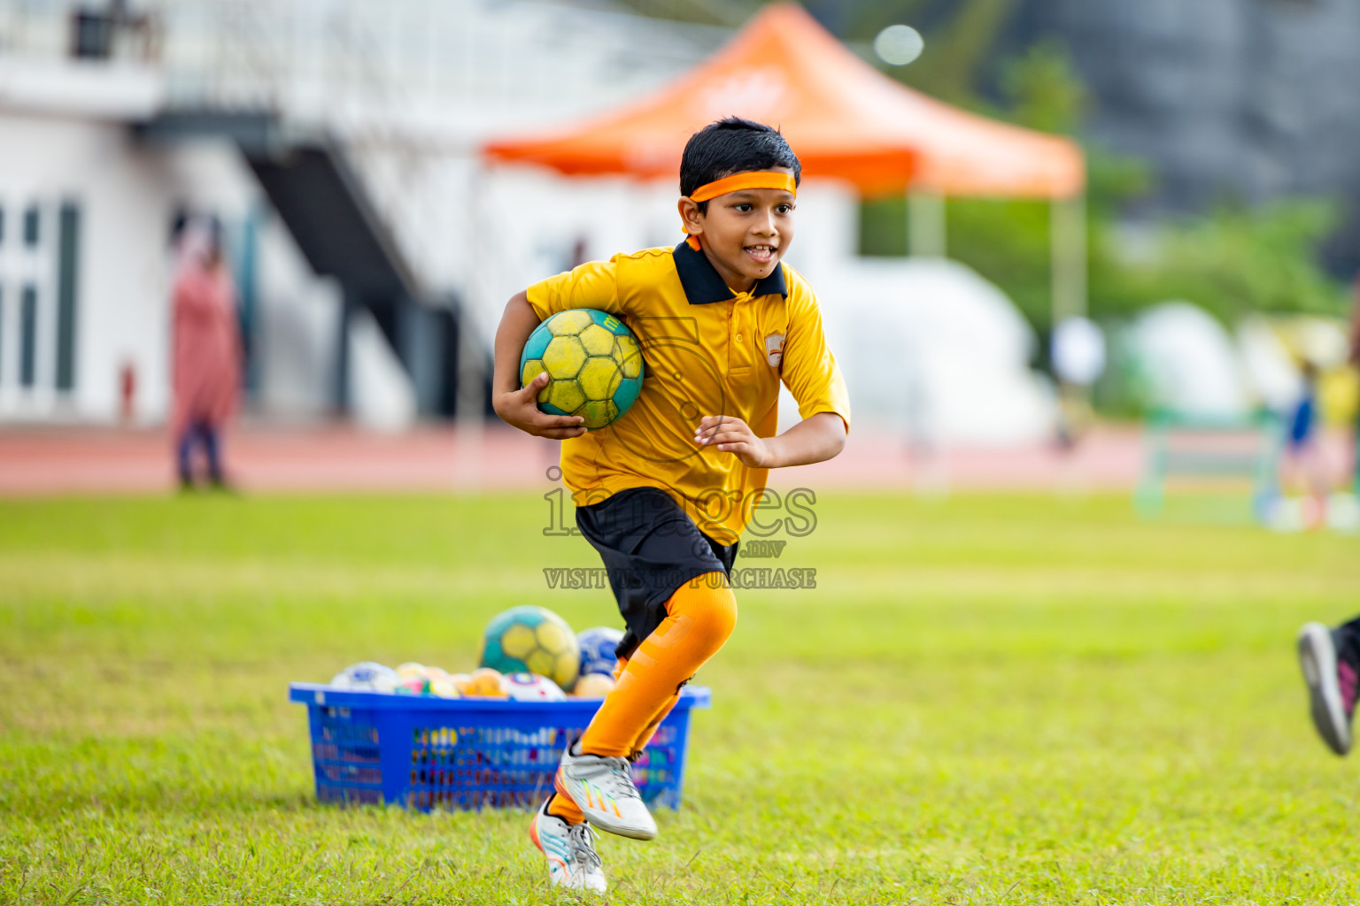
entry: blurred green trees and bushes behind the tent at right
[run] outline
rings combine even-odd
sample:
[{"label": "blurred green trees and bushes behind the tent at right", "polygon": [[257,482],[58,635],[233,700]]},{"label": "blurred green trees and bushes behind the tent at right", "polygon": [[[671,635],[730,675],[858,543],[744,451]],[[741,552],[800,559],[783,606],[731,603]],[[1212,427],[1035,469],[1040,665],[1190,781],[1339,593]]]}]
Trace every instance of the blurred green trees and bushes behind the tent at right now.
[{"label": "blurred green trees and bushes behind the tent at right", "polygon": [[[966,4],[968,5],[968,4]],[[929,38],[928,38],[928,46]],[[1043,132],[1080,137],[1093,101],[1057,42],[1031,46],[1000,69],[1002,102],[974,109]],[[1340,314],[1342,288],[1318,264],[1336,225],[1334,205],[1285,200],[1250,208],[1220,204],[1193,216],[1136,217],[1156,185],[1142,160],[1085,143],[1089,310],[1121,319],[1185,299],[1231,323],[1255,311]],[[1046,201],[951,198],[949,255],[1001,287],[1046,334],[1051,326],[1050,206]],[[866,201],[861,251],[907,249],[906,201]]]}]

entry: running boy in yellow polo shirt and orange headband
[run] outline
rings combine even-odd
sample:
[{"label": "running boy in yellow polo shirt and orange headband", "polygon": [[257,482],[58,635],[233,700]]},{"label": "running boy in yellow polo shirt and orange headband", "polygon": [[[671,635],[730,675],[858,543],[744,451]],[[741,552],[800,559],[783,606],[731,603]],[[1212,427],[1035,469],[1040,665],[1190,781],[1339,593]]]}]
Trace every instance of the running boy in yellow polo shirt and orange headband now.
[{"label": "running boy in yellow polo shirt and orange headband", "polygon": [[[605,890],[592,826],[651,839],[657,825],[632,762],[737,619],[728,573],[770,469],[831,459],[850,425],[845,380],[806,281],[779,259],[793,240],[801,166],[770,126],[729,117],[680,160],[675,249],[588,262],[510,299],[495,344],[494,405],[562,444],[577,526],[600,551],[627,633],[619,679],[530,826],[554,884]],[[568,308],[624,321],[643,350],[642,393],[608,428],[539,412],[539,375],[520,388],[520,352]],[[775,435],[781,382],[802,421]]]}]

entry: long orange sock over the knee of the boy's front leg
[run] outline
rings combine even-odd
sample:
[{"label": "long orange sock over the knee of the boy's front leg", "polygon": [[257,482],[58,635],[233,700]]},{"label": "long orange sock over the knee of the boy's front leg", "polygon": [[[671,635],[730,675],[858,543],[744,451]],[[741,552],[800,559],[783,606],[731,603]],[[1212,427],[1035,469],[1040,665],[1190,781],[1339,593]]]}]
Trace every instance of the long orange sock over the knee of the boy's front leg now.
[{"label": "long orange sock over the knee of the boy's front leg", "polygon": [[670,595],[666,614],[632,652],[619,685],[581,738],[581,751],[626,758],[641,750],[670,710],[680,685],[728,641],[737,623],[737,599],[725,575],[704,573]]}]

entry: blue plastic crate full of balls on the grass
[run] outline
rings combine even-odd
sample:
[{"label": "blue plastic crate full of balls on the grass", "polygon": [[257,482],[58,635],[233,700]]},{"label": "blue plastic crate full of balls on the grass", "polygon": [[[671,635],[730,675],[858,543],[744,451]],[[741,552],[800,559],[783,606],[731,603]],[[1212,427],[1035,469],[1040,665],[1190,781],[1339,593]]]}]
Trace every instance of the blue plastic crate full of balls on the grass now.
[{"label": "blue plastic crate full of balls on the grass", "polygon": [[[389,695],[321,683],[292,683],[288,698],[307,706],[317,799],[420,811],[536,808],[601,701]],[[680,807],[690,710],[710,702],[707,689],[685,686],[632,766],[649,804]]]}]

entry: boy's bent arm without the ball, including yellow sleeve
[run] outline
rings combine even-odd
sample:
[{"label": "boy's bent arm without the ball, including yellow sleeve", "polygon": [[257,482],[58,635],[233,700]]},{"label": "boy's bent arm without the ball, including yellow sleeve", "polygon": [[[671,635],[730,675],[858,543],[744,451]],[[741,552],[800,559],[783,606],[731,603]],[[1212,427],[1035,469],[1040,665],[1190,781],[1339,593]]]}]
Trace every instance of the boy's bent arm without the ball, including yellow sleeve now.
[{"label": "boy's bent arm without the ball, including yellow sleeve", "polygon": [[850,395],[827,346],[817,300],[805,284],[794,283],[792,289],[781,378],[798,401],[802,421],[775,437],[758,437],[740,418],[704,416],[694,436],[696,444],[717,446],[752,469],[831,459],[845,447],[850,429]]}]

